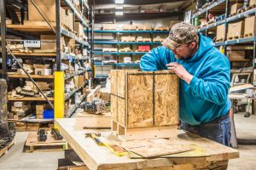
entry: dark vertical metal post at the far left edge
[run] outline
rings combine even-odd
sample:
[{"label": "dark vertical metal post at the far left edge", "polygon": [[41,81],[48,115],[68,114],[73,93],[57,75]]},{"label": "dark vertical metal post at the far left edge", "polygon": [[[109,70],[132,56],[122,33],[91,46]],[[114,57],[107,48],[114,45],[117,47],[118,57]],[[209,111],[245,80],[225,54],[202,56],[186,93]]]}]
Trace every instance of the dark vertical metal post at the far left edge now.
[{"label": "dark vertical metal post at the far left edge", "polygon": [[1,37],[2,37],[2,74],[7,79],[7,55],[6,55],[6,0],[0,0]]}]

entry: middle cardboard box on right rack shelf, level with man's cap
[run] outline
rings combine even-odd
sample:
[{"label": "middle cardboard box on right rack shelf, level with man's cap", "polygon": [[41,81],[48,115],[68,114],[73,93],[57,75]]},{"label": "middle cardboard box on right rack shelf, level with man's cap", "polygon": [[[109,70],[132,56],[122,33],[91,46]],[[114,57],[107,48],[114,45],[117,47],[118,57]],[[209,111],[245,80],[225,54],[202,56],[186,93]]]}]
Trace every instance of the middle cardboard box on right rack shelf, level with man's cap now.
[{"label": "middle cardboard box on right rack shelf, level with man's cap", "polygon": [[244,21],[230,23],[228,26],[228,38],[242,37],[244,33]]}]

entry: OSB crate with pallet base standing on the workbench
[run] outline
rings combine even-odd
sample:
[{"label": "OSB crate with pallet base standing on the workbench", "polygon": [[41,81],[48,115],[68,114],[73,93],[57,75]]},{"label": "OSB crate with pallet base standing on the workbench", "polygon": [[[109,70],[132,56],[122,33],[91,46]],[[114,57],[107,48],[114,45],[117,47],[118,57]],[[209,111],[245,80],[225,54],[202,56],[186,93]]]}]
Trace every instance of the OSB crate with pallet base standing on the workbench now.
[{"label": "OSB crate with pallet base standing on the workbench", "polygon": [[110,77],[113,133],[127,140],[177,135],[178,78],[173,72],[113,70]]}]

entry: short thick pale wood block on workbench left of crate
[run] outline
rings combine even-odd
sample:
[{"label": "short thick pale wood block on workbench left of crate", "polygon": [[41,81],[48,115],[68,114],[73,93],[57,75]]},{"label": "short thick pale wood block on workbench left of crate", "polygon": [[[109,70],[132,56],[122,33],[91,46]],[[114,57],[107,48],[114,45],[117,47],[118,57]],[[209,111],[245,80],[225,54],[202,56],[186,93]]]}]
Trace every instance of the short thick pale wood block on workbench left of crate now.
[{"label": "short thick pale wood block on workbench left of crate", "polygon": [[102,113],[100,115],[89,114],[87,112],[78,113],[75,117],[75,128],[110,128],[111,113]]}]

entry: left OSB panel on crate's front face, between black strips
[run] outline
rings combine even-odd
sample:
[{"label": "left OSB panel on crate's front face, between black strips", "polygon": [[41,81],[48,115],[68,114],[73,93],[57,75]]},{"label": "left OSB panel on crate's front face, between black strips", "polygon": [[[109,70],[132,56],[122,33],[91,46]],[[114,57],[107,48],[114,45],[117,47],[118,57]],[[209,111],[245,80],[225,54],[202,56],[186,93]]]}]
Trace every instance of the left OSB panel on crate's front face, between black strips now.
[{"label": "left OSB panel on crate's front face, between black strips", "polygon": [[153,76],[128,76],[127,127],[153,126]]}]

